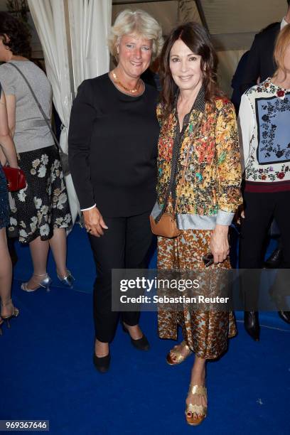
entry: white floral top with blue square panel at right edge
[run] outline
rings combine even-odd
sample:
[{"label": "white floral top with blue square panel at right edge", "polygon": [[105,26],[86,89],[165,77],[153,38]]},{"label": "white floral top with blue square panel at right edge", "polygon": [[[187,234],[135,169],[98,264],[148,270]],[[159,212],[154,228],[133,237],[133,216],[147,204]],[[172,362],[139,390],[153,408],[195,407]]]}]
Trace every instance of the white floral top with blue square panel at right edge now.
[{"label": "white floral top with blue square panel at right edge", "polygon": [[290,90],[271,77],[242,95],[239,125],[245,180],[290,190]]}]

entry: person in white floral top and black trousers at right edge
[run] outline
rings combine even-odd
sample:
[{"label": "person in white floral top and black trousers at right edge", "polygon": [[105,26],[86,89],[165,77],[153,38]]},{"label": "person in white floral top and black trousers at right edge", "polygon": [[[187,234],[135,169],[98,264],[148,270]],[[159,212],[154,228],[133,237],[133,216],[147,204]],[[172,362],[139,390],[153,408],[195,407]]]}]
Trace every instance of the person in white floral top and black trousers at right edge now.
[{"label": "person in white floral top and black trousers at right edge", "polygon": [[[279,33],[274,60],[277,69],[273,77],[251,87],[242,95],[240,104],[245,164],[245,218],[240,240],[242,269],[262,268],[263,245],[273,217],[283,242],[279,267],[290,268],[290,24]],[[248,311],[246,314],[246,331],[254,340],[259,340],[258,313]],[[279,316],[290,323],[290,311],[280,309]]]}]

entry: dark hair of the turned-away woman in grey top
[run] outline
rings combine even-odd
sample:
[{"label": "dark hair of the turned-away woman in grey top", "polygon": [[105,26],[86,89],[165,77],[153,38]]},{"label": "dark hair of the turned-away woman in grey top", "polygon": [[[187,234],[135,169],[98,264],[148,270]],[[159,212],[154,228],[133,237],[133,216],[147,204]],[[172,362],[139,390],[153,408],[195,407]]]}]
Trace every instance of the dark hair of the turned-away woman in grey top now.
[{"label": "dark hair of the turned-away woman in grey top", "polygon": [[28,25],[8,12],[0,12],[0,37],[14,55],[31,57],[31,33]]}]

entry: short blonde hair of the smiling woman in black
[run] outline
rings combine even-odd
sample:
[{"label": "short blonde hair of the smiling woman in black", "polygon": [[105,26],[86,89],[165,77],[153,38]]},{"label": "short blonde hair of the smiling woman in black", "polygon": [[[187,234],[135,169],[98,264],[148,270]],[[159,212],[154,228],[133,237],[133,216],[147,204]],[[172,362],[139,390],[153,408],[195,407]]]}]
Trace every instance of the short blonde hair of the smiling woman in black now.
[{"label": "short blonde hair of the smiling woman in black", "polygon": [[162,29],[151,15],[140,9],[120,12],[111,28],[108,38],[109,52],[117,58],[117,45],[124,35],[136,34],[152,41],[152,60],[161,53],[163,46]]}]

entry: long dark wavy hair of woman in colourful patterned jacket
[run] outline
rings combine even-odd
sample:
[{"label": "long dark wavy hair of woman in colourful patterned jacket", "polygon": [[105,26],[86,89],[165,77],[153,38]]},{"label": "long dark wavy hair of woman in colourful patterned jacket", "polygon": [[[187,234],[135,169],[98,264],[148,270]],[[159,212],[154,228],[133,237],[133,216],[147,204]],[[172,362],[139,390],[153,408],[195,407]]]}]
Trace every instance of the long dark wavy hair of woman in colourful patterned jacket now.
[{"label": "long dark wavy hair of woman in colourful patterned jacket", "polygon": [[163,105],[163,116],[166,117],[172,110],[175,100],[177,86],[174,82],[169,68],[170,52],[173,44],[181,39],[190,50],[201,56],[200,68],[203,74],[203,85],[205,86],[205,101],[215,108],[215,97],[222,97],[222,92],[217,85],[218,56],[210,41],[208,31],[199,23],[183,23],[173,28],[166,39],[160,56],[160,78],[161,78],[161,104]]}]

